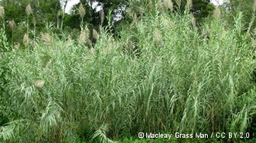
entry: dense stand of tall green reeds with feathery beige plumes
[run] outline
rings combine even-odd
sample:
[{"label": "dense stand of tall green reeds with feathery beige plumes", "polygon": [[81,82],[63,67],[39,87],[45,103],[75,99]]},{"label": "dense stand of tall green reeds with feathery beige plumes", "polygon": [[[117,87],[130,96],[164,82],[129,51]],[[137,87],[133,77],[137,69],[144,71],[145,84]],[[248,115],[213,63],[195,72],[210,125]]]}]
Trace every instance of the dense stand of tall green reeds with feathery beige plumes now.
[{"label": "dense stand of tall green reeds with feathery beige plumes", "polygon": [[184,142],[140,132],[242,132],[250,139],[186,142],[254,142],[254,17],[237,13],[231,25],[215,8],[199,25],[190,2],[172,13],[151,4],[114,34],[110,19],[88,28],[83,7],[78,37],[50,24],[33,36],[27,6],[23,43],[13,43],[3,20],[0,142]]}]

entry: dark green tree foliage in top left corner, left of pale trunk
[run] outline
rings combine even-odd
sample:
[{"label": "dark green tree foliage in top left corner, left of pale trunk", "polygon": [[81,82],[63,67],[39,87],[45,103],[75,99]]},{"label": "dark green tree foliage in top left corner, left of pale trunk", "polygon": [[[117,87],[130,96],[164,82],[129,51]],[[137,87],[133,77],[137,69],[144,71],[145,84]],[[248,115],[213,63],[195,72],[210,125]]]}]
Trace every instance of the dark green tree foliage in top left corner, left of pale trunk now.
[{"label": "dark green tree foliage in top left corner, left of pale trunk", "polygon": [[32,14],[29,15],[29,25],[31,30],[36,25],[37,31],[43,31],[47,22],[56,23],[58,11],[61,9],[59,0],[3,0],[5,7],[5,21],[10,23],[14,20],[14,26],[7,25],[6,33],[8,39],[13,42],[21,42],[23,34],[26,32],[26,6],[30,4]]}]

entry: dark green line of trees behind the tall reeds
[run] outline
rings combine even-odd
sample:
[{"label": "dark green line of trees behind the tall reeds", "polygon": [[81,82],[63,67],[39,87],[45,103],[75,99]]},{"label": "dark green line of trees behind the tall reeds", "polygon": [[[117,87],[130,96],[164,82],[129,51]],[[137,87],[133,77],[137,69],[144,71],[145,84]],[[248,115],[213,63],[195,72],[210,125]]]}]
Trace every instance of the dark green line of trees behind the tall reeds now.
[{"label": "dark green line of trees behind the tall reeds", "polygon": [[[107,26],[111,23],[112,31],[122,28],[127,24],[133,22],[134,19],[139,19],[151,7],[152,2],[159,2],[159,8],[166,7],[169,12],[182,13],[187,4],[187,0],[81,0],[78,4],[72,7],[70,13],[65,13],[66,5],[70,0],[2,0],[1,5],[5,9],[5,22],[8,23],[6,33],[8,39],[12,42],[20,43],[22,41],[23,34],[27,31],[27,25],[29,24],[31,29],[40,32],[46,31],[45,25],[50,25],[50,30],[54,33],[62,33],[66,31],[71,36],[75,37],[81,30],[81,19],[83,19],[83,25],[92,32],[93,29],[99,29],[99,26]],[[197,19],[197,25],[213,13],[215,6],[210,0],[188,0],[191,1],[190,13],[192,13]],[[102,10],[97,11],[93,7],[93,3],[102,6]],[[230,0],[226,4],[221,6],[222,16],[227,19],[227,22],[231,24],[233,16],[236,16],[237,11],[242,11],[244,18],[242,19],[245,25],[249,25],[251,22],[253,8],[253,1],[242,0]],[[161,5],[163,4],[163,5]],[[31,14],[26,14],[26,7],[30,5]],[[147,5],[148,10],[142,9],[140,6]],[[83,17],[79,14],[79,7],[84,7]],[[254,6],[255,7],[255,6]],[[153,8],[154,9],[154,8]],[[114,21],[114,16],[119,15],[120,20]],[[28,22],[29,19],[29,23]],[[111,21],[111,22],[109,22]],[[255,27],[255,22],[251,23]],[[248,27],[248,26],[245,26]]]}]

